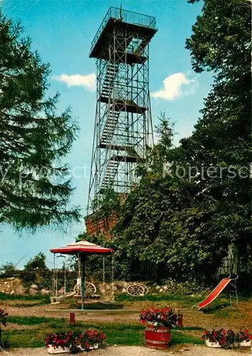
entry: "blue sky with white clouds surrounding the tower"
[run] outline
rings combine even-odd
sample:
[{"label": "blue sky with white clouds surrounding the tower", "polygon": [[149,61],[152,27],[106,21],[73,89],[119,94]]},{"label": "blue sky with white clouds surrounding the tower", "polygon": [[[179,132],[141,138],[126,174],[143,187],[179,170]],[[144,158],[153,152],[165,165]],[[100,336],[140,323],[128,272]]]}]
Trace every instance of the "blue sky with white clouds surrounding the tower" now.
[{"label": "blue sky with white clouds surrounding the tower", "polygon": [[[61,93],[59,110],[70,105],[78,118],[80,136],[68,162],[71,167],[84,167],[84,177],[73,181],[76,191],[72,199],[83,208],[84,215],[95,119],[92,74],[96,70],[95,61],[88,57],[90,43],[107,9],[120,7],[120,1],[0,0],[0,5],[7,17],[21,20],[25,35],[33,40],[33,49],[38,50],[44,62],[51,63],[48,94],[57,90]],[[176,124],[176,145],[180,138],[191,134],[212,82],[209,73],[196,75],[191,70],[190,53],[184,48],[201,7],[202,2],[191,5],[187,0],[122,1],[123,9],[157,19],[159,31],[152,38],[149,53],[152,117],[155,125],[157,116],[165,110]],[[18,267],[22,268],[29,258],[43,251],[51,267],[53,256],[49,249],[72,241],[83,230],[84,224],[80,223],[72,224],[65,232],[47,228],[36,234],[16,234],[8,226],[1,226],[0,264],[19,262]]]}]

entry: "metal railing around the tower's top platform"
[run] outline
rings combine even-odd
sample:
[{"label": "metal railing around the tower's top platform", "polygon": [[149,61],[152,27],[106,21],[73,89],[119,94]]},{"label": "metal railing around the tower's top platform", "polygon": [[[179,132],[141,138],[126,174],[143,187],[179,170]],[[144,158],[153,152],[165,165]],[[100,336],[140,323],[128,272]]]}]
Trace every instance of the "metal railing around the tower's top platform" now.
[{"label": "metal railing around the tower's top platform", "polygon": [[153,16],[148,16],[133,11],[122,10],[117,7],[111,6],[110,9],[108,9],[107,14],[105,14],[105,17],[102,23],[100,24],[97,33],[95,34],[95,37],[91,43],[90,53],[93,51],[93,48],[95,47],[95,43],[98,41],[98,38],[100,37],[100,33],[103,32],[103,28],[105,28],[107,21],[111,18],[121,20],[126,23],[132,23],[138,26],[145,26],[147,28],[156,28],[156,19]]}]

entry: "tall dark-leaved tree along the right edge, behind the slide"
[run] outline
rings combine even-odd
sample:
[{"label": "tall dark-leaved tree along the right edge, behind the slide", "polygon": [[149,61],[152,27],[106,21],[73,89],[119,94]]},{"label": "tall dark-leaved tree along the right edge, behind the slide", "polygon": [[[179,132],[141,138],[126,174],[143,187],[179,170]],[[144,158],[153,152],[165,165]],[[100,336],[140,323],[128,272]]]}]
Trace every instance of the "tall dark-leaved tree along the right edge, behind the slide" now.
[{"label": "tall dark-leaved tree along the right edge, behind the slide", "polygon": [[[240,0],[204,1],[202,14],[187,39],[187,48],[194,70],[211,70],[214,85],[193,135],[181,141],[174,160],[187,167],[187,178],[196,186],[192,206],[200,209],[201,214],[211,206],[208,226],[210,221],[212,225],[205,228],[215,226],[218,232],[216,235],[212,231],[211,244],[215,242],[211,259],[218,261],[219,253],[225,256],[229,244],[234,242],[243,260],[241,269],[248,270],[252,239],[251,11],[247,5]],[[190,172],[194,177],[189,177]],[[190,236],[190,224],[186,229]],[[196,224],[196,236],[205,235],[200,231]],[[209,245],[202,239],[201,250],[207,252]],[[180,251],[183,253],[183,249]],[[205,258],[207,261],[208,253]]]}]

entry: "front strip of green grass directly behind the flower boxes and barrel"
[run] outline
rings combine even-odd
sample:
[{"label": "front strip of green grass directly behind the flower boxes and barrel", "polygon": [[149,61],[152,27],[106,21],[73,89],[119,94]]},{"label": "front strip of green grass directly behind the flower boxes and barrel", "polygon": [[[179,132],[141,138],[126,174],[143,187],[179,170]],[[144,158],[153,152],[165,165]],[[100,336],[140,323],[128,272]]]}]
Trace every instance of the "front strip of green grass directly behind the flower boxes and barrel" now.
[{"label": "front strip of green grass directly behind the flower boxes and barrel", "polygon": [[[106,335],[108,345],[145,345],[145,326],[141,323],[125,325],[115,323],[84,323],[80,322],[75,327],[70,326],[68,320],[63,318],[43,318],[43,317],[9,317],[9,323],[19,325],[40,325],[36,329],[4,330],[4,340],[6,345],[11,347],[43,347],[43,339],[47,333],[69,330],[83,330],[93,328],[103,330]],[[172,343],[194,343],[200,344],[199,337],[189,335],[188,331],[202,330],[199,327],[189,327],[172,329]]]}]

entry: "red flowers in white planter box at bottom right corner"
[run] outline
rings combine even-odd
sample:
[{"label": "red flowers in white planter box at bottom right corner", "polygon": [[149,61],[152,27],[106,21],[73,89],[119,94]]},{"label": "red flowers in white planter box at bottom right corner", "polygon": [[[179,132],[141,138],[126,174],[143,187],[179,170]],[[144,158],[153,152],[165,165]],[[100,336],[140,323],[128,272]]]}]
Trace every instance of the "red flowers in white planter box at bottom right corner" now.
[{"label": "red flowers in white planter box at bottom right corner", "polygon": [[207,347],[223,347],[226,349],[236,347],[236,346],[250,346],[252,335],[249,331],[239,330],[235,333],[233,330],[205,330],[201,337],[202,340],[206,341]]}]

